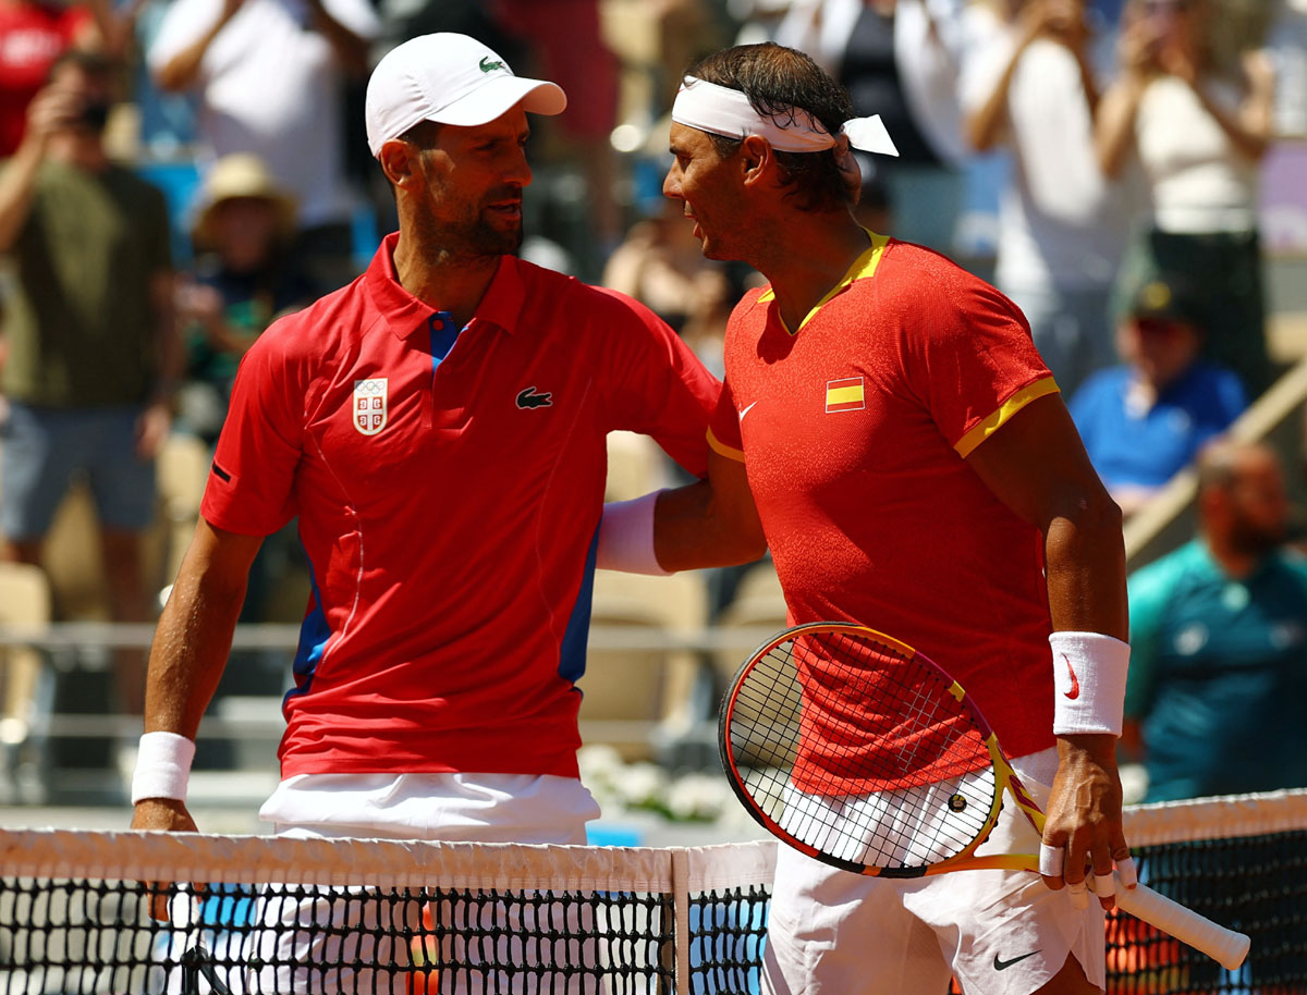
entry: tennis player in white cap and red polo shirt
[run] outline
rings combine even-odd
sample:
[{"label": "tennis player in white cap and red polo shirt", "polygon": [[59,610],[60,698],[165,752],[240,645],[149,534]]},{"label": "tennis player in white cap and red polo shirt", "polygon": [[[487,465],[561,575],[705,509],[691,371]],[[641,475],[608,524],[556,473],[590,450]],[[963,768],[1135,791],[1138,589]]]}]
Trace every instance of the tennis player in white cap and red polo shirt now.
[{"label": "tennis player in white cap and red polo shirt", "polygon": [[[193,739],[246,573],[298,514],[312,597],[260,816],[301,837],[586,841],[599,810],[578,780],[576,682],[605,437],[644,432],[704,477],[720,384],[643,306],[516,259],[528,114],[565,106],[465,35],[414,38],[378,64],[367,141],[399,231],[244,358],[150,658],[136,828],[195,829]],[[746,498],[742,467],[733,479]],[[758,542],[732,559],[755,559]],[[260,908],[269,928],[239,955],[260,964],[254,990],[408,991],[397,930],[421,902]],[[396,928],[356,931],[359,917]],[[331,930],[278,928],[288,919]],[[493,971],[478,985],[507,990]]]}]

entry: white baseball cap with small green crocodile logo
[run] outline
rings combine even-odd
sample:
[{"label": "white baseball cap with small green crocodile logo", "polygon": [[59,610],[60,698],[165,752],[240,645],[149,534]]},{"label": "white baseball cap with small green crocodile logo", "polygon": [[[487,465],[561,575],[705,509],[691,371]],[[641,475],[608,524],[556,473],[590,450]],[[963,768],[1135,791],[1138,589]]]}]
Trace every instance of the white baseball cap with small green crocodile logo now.
[{"label": "white baseball cap with small green crocodile logo", "polygon": [[418,35],[372,69],[365,103],[367,148],[379,155],[382,145],[420,121],[485,124],[519,101],[532,114],[561,114],[567,106],[558,84],[514,76],[508,63],[476,38]]}]

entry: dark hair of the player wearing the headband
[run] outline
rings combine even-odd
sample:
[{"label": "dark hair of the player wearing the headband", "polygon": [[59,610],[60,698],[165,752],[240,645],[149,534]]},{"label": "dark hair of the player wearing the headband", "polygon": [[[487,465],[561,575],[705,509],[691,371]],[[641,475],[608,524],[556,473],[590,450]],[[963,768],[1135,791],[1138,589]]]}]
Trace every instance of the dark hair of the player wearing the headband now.
[{"label": "dark hair of the player wearing the headband", "polygon": [[[740,44],[707,55],[687,71],[706,82],[729,86],[749,98],[758,114],[775,118],[786,127],[795,120],[795,108],[808,111],[831,134],[853,116],[844,89],[808,55],[783,44]],[[740,149],[738,138],[708,134],[718,154],[729,158]],[[851,192],[831,150],[776,151],[786,196],[795,197],[802,210],[835,210],[851,201]]]}]

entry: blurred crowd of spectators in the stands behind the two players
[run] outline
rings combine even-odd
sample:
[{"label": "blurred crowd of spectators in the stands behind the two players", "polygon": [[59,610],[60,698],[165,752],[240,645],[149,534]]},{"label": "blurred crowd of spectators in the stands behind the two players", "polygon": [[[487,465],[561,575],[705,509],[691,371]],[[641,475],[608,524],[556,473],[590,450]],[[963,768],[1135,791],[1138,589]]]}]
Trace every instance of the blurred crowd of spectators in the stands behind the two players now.
[{"label": "blurred crowd of spectators in the stands behind the two players", "polygon": [[[1281,372],[1265,261],[1307,253],[1307,0],[0,0],[4,558],[47,567],[85,484],[108,578],[55,618],[153,619],[180,550],[141,539],[203,488],[240,355],[393,227],[369,71],[444,30],[569,95],[532,121],[523,255],[640,299],[719,375],[758,277],[661,196],[668,111],[694,57],[761,40],[881,115],[901,154],[861,159],[864,223],[1021,306],[1127,513]],[[140,469],[170,454],[161,501]],[[640,458],[637,492],[672,473]],[[294,547],[267,543],[243,620],[295,620]]]}]

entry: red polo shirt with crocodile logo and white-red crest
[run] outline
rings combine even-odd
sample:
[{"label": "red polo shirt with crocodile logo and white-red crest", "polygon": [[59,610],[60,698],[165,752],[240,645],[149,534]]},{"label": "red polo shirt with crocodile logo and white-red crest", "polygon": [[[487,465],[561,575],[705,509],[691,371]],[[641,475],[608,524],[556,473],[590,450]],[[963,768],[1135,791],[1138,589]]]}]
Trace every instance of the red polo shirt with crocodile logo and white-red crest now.
[{"label": "red polo shirt with crocodile logo and white-red crest", "polygon": [[242,362],[201,512],[299,516],[282,776],[576,774],[605,436],[695,475],[719,384],[643,306],[506,256],[467,328],[382,244]]}]

